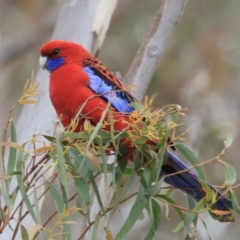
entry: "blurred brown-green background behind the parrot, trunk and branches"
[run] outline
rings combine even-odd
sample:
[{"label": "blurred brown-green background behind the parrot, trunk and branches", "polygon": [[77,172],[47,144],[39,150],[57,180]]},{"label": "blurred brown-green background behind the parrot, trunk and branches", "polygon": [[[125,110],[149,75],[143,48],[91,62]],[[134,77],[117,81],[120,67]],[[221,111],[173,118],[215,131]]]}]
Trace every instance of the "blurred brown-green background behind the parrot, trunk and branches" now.
[{"label": "blurred brown-green background behind the parrot, trunk and branches", "polygon": [[[5,125],[8,112],[21,96],[32,71],[37,72],[39,48],[50,39],[63,2],[0,0],[0,126]],[[98,56],[109,69],[122,76],[127,73],[159,9],[159,2],[119,1]],[[239,10],[239,0],[188,1],[146,95],[154,96],[154,107],[176,103],[190,109],[180,122],[192,129],[186,145],[200,161],[219,154],[230,132],[234,143],[224,160],[240,176]],[[16,120],[20,110],[14,113]],[[223,184],[224,170],[220,164],[208,164],[205,169],[209,182]],[[240,196],[240,191],[237,192]],[[183,195],[177,196],[181,196],[179,202],[184,204]],[[163,219],[156,239],[163,233],[166,238],[161,239],[183,239],[184,234],[171,233],[176,226],[174,216],[173,213],[170,220]],[[237,222],[226,225],[209,220],[208,228],[216,239],[239,239]],[[147,230],[148,226],[139,223],[126,239],[139,236],[137,228]],[[205,230],[199,233],[199,239],[207,239]]]}]

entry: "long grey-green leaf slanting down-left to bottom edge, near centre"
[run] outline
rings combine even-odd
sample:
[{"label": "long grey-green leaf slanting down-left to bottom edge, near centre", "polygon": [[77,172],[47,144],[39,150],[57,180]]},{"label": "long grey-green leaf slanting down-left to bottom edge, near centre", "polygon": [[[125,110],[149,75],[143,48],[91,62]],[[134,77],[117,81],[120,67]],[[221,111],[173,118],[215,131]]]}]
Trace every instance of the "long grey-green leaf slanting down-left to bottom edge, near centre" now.
[{"label": "long grey-green leaf slanting down-left to bottom edge, near centre", "polygon": [[135,222],[139,219],[141,216],[144,207],[146,206],[148,202],[148,199],[145,197],[145,191],[142,186],[140,186],[137,198],[130,210],[130,213],[121,227],[120,231],[117,233],[115,240],[121,240],[123,239],[127,233],[132,229]]}]

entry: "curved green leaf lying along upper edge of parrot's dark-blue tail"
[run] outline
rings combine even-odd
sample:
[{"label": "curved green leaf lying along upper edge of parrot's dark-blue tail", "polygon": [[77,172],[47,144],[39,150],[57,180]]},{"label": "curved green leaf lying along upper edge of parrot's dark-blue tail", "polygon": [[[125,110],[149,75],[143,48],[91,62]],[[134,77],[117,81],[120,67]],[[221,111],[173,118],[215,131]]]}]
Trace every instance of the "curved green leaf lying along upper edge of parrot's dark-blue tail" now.
[{"label": "curved green leaf lying along upper edge of parrot's dark-blue tail", "polygon": [[[197,158],[193,155],[192,151],[184,146],[182,143],[176,143],[174,146],[186,157],[186,159],[192,164],[192,165],[198,165],[199,161]],[[205,173],[202,166],[196,166],[194,169],[196,169],[199,177],[205,181]]]}]

